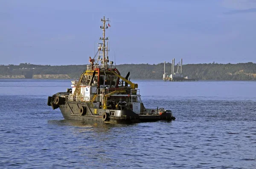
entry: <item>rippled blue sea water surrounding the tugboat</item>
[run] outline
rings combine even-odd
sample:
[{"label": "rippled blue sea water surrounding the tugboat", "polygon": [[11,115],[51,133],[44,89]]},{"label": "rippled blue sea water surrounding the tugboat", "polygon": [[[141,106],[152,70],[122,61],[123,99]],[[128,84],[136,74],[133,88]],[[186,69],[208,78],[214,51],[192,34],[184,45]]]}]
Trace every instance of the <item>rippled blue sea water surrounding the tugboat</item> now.
[{"label": "rippled blue sea water surrounding the tugboat", "polygon": [[134,82],[176,121],[68,121],[47,96],[70,80],[0,79],[0,168],[256,168],[256,82]]}]

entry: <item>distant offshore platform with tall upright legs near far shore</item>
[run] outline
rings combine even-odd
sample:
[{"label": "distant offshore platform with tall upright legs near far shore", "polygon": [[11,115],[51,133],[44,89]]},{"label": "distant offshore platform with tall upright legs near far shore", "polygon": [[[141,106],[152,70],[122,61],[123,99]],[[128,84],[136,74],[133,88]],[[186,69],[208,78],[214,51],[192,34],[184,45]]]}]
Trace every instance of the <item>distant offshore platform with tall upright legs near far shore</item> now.
[{"label": "distant offshore platform with tall upright legs near far shore", "polygon": [[165,62],[164,62],[164,69],[163,69],[163,80],[164,81],[171,81],[171,82],[197,82],[198,79],[190,79],[188,76],[183,77],[182,74],[182,59],[179,63],[177,63],[177,71],[175,73],[175,58],[172,59],[172,73],[171,75],[167,75],[165,71]]}]

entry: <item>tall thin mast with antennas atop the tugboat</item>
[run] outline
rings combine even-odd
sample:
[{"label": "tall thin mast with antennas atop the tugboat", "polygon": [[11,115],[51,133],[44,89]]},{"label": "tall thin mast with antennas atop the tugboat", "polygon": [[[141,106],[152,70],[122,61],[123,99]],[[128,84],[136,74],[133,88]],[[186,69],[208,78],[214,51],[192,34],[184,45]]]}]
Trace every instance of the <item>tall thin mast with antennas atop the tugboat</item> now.
[{"label": "tall thin mast with antennas atop the tugboat", "polygon": [[105,69],[108,69],[108,54],[106,55],[106,51],[108,51],[108,45],[106,47],[105,45],[105,40],[108,40],[108,37],[105,38],[105,31],[106,29],[108,29],[108,25],[106,25],[106,22],[109,22],[109,20],[105,20],[105,16],[103,17],[103,19],[101,19],[102,23],[103,23],[103,26],[100,26],[100,28],[102,29],[103,31],[103,37],[100,37],[99,39],[102,40],[103,42],[103,47],[102,47],[102,54],[103,54],[103,68]]}]

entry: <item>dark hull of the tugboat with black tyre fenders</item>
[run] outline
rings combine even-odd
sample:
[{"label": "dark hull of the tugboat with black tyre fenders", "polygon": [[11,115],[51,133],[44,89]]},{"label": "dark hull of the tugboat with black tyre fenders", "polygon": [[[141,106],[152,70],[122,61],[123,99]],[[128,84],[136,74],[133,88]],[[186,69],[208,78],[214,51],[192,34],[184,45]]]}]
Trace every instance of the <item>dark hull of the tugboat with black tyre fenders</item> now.
[{"label": "dark hull of the tugboat with black tyre fenders", "polygon": [[[83,108],[81,108],[83,107]],[[65,101],[59,105],[61,113],[65,119],[101,122],[101,123],[121,123],[131,124],[151,121],[171,121],[175,117],[172,113],[162,115],[139,115],[132,110],[104,110],[91,108],[90,102]],[[81,112],[81,109],[84,111]]]}]

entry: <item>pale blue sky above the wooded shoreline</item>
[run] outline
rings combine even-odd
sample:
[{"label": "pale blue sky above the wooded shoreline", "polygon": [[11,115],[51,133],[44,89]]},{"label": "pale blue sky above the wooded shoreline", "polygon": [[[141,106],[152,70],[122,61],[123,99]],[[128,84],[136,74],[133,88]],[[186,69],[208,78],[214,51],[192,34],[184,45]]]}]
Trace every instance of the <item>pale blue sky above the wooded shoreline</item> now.
[{"label": "pale blue sky above the wooded shoreline", "polygon": [[0,65],[256,62],[256,0],[0,0]]}]

